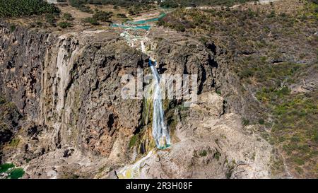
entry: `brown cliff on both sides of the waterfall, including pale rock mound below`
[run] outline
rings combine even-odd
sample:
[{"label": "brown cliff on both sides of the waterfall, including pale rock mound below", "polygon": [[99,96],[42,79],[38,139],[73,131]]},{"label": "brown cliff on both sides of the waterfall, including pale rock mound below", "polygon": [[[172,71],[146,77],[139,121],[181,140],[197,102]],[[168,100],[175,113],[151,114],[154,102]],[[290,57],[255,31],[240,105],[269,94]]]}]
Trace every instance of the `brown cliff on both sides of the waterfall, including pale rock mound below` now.
[{"label": "brown cliff on both sides of the waterfall, including pale rock mound below", "polygon": [[[23,117],[17,121],[18,129],[12,129],[19,143],[4,144],[2,162],[23,165],[25,177],[52,178],[116,177],[112,170],[134,162],[136,148],[129,147],[129,141],[145,126],[145,104],[141,99],[122,99],[121,78],[136,76],[137,69],[148,70],[148,56],[140,52],[139,44],[127,45],[114,30],[48,34],[22,27],[11,31],[6,23],[0,24],[0,35],[0,93]],[[148,53],[158,60],[160,73],[198,74],[201,105],[185,112],[167,108],[167,116],[177,125],[175,145],[158,152],[159,157],[163,154],[161,161],[153,160],[158,156],[149,160],[160,170],[141,172],[141,176],[268,177],[269,144],[257,141],[242,125],[237,127],[240,116],[230,114],[247,100],[237,102],[233,97],[226,109],[224,99],[213,93],[220,86],[224,90],[230,86],[225,93],[237,89],[235,77],[225,64],[222,68],[218,64],[220,50],[213,43],[205,46],[162,29],[151,30],[148,38]],[[232,108],[235,104],[239,105]],[[211,128],[217,126],[220,129],[214,132]],[[257,145],[240,148],[241,143]],[[248,158],[243,156],[247,152]],[[175,162],[172,171],[179,173],[170,173],[169,164],[158,166],[164,160]],[[252,169],[234,176],[238,165]]]}]

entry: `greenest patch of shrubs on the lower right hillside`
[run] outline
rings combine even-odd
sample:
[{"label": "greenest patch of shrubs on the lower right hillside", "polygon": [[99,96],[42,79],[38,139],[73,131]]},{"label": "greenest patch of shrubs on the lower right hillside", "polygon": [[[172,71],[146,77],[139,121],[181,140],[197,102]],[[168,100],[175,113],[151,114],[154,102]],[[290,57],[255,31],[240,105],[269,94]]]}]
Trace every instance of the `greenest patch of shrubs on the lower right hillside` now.
[{"label": "greenest patch of shrubs on the lower right hillside", "polygon": [[[290,94],[285,99],[272,103],[273,124],[271,140],[279,144],[287,153],[288,163],[298,165],[301,170],[309,170],[318,177],[314,168],[317,167],[318,152],[318,92]],[[301,174],[301,172],[299,172]]]}]

